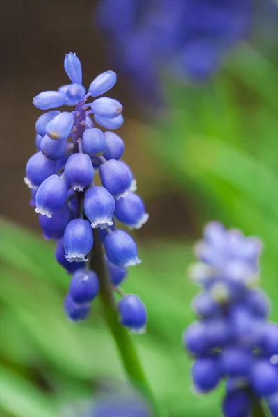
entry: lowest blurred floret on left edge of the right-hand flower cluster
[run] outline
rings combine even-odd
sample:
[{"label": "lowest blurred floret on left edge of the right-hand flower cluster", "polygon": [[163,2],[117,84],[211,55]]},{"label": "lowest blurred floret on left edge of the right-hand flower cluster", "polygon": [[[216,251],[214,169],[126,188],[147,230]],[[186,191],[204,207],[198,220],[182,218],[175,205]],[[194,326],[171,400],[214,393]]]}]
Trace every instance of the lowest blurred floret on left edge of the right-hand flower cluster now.
[{"label": "lowest blurred floret on left edge of the right-hand flower cluster", "polygon": [[210,355],[195,359],[191,369],[191,375],[195,389],[200,393],[208,393],[218,386],[220,372],[218,369],[218,357]]}]

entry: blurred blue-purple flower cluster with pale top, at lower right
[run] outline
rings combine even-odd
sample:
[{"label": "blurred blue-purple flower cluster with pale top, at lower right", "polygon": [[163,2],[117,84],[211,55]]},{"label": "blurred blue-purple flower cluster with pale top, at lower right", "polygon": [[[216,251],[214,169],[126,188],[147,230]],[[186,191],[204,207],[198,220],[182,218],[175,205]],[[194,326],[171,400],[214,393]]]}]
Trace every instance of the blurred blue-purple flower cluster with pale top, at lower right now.
[{"label": "blurred blue-purple flower cluster with pale top, at lower right", "polygon": [[211,222],[197,243],[191,277],[203,290],[193,300],[198,321],[183,336],[195,357],[192,378],[201,393],[227,379],[222,411],[247,417],[254,398],[278,416],[278,325],[258,285],[261,245],[238,230]]}]

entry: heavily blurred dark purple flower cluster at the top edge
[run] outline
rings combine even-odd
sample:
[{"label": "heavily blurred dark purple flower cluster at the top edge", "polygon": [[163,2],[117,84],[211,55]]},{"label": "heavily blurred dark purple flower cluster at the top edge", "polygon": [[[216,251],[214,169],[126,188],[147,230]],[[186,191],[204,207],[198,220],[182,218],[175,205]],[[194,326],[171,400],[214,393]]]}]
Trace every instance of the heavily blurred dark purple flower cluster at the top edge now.
[{"label": "heavily blurred dark purple flower cluster at the top edge", "polygon": [[149,92],[160,67],[193,81],[213,74],[247,35],[252,6],[253,0],[101,0],[95,21],[109,37],[109,57]]}]

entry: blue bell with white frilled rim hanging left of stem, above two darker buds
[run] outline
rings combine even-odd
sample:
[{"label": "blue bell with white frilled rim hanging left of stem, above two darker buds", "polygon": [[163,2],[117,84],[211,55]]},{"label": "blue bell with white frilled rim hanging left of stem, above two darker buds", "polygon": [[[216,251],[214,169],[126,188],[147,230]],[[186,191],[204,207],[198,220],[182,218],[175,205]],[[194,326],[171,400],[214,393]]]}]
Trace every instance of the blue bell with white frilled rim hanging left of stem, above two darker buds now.
[{"label": "blue bell with white frilled rim hanging left of stem, above two darker buds", "polygon": [[92,227],[88,220],[74,219],[67,224],[64,234],[67,261],[88,261],[85,256],[92,249],[92,243]]}]

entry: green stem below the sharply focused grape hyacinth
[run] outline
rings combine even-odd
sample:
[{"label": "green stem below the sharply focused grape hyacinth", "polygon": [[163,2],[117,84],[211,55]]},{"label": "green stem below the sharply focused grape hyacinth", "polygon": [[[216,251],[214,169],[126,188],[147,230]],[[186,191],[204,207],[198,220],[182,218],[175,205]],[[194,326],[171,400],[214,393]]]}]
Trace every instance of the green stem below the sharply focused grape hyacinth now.
[{"label": "green stem below the sharply focused grape hyacinth", "polygon": [[161,411],[154,395],[152,394],[152,390],[150,389],[142,370],[140,359],[138,358],[129,333],[118,320],[117,306],[113,296],[113,288],[111,287],[111,282],[106,274],[106,267],[103,261],[101,242],[99,240],[97,229],[93,229],[93,235],[94,247],[92,250],[92,256],[90,257],[90,268],[92,268],[92,270],[94,270],[99,277],[99,299],[101,302],[101,308],[103,310],[106,323],[111,330],[117,350],[120,354],[120,359],[122,360],[125,373],[133,388],[136,389],[136,391],[139,391],[149,403],[152,408],[152,416],[165,416],[165,413]]}]

